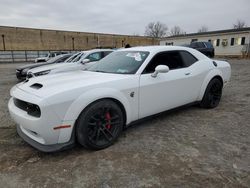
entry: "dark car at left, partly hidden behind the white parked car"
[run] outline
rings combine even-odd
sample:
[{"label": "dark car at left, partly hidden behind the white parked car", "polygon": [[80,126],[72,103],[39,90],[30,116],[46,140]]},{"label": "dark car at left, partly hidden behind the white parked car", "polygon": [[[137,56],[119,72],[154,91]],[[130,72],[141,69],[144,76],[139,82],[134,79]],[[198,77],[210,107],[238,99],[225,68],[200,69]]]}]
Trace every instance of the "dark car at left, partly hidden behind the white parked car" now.
[{"label": "dark car at left, partly hidden behind the white parked car", "polygon": [[53,57],[51,59],[49,59],[47,62],[44,63],[33,63],[33,64],[27,64],[27,65],[23,65],[20,66],[16,69],[16,77],[18,80],[24,80],[27,77],[27,72],[35,67],[41,67],[44,65],[50,65],[50,64],[54,64],[54,63],[61,63],[66,61],[67,59],[69,59],[69,57],[71,57],[72,54],[62,54],[62,55],[58,55],[56,57]]}]

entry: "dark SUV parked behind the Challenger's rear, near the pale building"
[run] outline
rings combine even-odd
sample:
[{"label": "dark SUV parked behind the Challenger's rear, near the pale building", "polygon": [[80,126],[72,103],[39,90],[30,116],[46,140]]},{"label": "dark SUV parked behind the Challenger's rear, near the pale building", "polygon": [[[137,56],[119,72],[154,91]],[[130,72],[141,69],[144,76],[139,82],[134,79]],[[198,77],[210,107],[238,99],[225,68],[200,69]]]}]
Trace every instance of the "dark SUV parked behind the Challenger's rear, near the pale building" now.
[{"label": "dark SUV parked behind the Challenger's rear, near the pale building", "polygon": [[194,48],[208,57],[214,57],[214,47],[211,42],[192,42],[189,45],[190,48]]}]

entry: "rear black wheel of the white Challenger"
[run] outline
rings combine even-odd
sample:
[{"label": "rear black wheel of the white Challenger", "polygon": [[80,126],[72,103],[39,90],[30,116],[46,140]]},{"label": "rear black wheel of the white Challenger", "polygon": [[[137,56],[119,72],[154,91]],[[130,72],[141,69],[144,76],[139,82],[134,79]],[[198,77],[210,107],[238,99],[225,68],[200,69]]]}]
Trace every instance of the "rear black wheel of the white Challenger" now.
[{"label": "rear black wheel of the white Challenger", "polygon": [[207,85],[206,91],[200,103],[202,108],[215,108],[219,105],[223,84],[218,78],[213,78]]}]

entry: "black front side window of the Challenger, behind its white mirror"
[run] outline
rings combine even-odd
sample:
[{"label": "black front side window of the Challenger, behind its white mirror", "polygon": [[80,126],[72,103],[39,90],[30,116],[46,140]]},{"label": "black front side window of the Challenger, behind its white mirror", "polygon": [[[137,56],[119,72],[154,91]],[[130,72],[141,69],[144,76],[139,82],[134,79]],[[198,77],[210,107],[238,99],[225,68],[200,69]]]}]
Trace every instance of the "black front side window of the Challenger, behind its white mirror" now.
[{"label": "black front side window of the Challenger, behind its white mirror", "polygon": [[167,65],[170,70],[185,67],[178,51],[162,52],[153,57],[143,73],[153,73],[158,65]]}]

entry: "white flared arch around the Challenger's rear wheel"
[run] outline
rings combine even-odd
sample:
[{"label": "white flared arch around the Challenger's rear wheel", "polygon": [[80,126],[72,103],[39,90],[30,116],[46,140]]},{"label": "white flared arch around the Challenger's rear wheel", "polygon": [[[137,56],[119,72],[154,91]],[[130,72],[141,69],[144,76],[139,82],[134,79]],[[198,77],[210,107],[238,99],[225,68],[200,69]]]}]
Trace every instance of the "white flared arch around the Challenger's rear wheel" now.
[{"label": "white flared arch around the Challenger's rear wheel", "polygon": [[222,72],[219,69],[212,69],[210,70],[210,72],[207,74],[207,76],[205,77],[202,85],[201,85],[201,89],[200,89],[200,94],[198,96],[198,101],[201,101],[203,98],[203,95],[206,91],[207,85],[210,82],[210,80],[212,80],[215,76],[220,76],[223,79],[222,76]]}]

